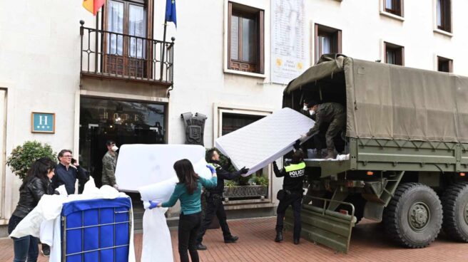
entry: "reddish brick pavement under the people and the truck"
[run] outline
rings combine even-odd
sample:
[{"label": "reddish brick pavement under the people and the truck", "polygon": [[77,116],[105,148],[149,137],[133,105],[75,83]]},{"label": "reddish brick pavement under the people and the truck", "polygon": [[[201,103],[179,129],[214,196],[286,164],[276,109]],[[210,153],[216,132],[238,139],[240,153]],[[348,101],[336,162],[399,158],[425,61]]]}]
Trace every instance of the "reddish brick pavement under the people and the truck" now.
[{"label": "reddish brick pavement under the people and the truck", "polygon": [[[407,249],[388,241],[380,224],[363,220],[353,229],[351,248],[348,254],[335,253],[325,246],[301,240],[292,243],[292,234],[285,234],[283,243],[275,243],[275,219],[243,219],[229,221],[233,234],[240,237],[238,243],[224,243],[220,229],[208,230],[203,243],[207,251],[199,251],[200,261],[468,261],[468,243],[449,241],[444,234],[427,248]],[[178,260],[177,231],[173,237],[174,261]],[[141,254],[141,234],[136,234],[137,261]],[[10,239],[0,240],[0,262],[12,261],[13,246]],[[47,258],[39,256],[39,262]]]}]

